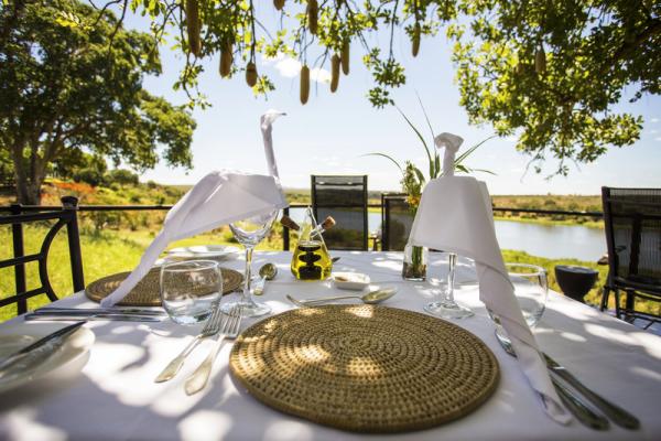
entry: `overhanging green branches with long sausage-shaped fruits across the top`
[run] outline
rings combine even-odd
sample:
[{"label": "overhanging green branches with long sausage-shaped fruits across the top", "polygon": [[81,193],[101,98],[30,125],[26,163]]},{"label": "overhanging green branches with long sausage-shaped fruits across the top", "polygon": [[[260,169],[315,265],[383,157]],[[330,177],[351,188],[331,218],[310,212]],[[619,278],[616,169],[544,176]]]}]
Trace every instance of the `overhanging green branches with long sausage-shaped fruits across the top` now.
[{"label": "overhanging green branches with long sausage-shaped fruits across the top", "polygon": [[[332,90],[340,72],[349,74],[349,53],[361,51],[373,77],[372,105],[392,104],[391,89],[405,71],[392,51],[394,31],[405,32],[415,56],[421,40],[444,30],[454,41],[453,61],[462,105],[473,122],[497,133],[517,135],[518,149],[543,161],[589,162],[609,146],[633,143],[642,120],[615,114],[625,88],[638,99],[659,94],[661,3],[654,0],[107,0],[152,20],[155,41],[167,41],[186,65],[175,87],[204,105],[196,92],[202,60],[218,57],[221,76],[245,75],[256,93],[273,83],[259,71],[257,54],[299,58],[301,98],[310,68],[330,66]],[[256,8],[275,8],[281,20],[269,26]],[[369,34],[390,42],[370,46]],[[425,51],[433,47],[422,46]],[[340,71],[342,67],[342,71]]]}]

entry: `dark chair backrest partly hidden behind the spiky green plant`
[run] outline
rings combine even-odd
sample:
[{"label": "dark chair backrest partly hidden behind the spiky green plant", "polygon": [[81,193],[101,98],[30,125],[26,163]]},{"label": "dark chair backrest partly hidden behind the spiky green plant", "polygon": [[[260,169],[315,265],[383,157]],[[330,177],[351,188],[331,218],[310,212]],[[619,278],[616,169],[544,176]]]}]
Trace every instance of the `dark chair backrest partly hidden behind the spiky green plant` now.
[{"label": "dark chair backrest partly hidden behind the spiky green plant", "polygon": [[403,251],[415,214],[403,193],[381,194],[381,249]]}]

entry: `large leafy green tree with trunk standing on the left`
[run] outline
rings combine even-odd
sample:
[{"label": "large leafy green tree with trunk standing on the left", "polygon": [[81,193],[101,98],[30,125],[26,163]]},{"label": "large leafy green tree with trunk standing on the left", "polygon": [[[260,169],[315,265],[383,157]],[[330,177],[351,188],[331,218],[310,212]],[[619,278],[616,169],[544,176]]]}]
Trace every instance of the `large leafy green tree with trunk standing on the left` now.
[{"label": "large leafy green tree with trunk standing on the left", "polygon": [[76,0],[8,1],[0,9],[0,149],[19,201],[37,204],[50,166],[82,152],[138,170],[191,166],[188,110],[142,88],[161,65],[153,37]]}]

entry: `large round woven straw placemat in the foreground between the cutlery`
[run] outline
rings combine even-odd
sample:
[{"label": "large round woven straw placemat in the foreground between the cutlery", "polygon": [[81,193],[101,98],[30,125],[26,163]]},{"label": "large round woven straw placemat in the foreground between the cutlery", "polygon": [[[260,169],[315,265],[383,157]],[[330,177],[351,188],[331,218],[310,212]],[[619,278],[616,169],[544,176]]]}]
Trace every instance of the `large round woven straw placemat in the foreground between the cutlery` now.
[{"label": "large round woven straw placemat in the foreground between the cutlery", "polygon": [[229,366],[257,399],[358,432],[425,429],[460,418],[496,389],[499,367],[446,321],[375,305],[291,310],[246,330]]}]

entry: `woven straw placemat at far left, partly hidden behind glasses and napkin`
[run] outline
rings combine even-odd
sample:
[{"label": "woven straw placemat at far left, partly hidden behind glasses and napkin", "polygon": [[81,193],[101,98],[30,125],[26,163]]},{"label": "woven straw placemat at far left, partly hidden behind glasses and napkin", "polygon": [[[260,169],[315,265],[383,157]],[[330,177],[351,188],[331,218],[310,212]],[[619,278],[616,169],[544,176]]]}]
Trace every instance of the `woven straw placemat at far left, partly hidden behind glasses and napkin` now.
[{"label": "woven straw placemat at far left, partly hidden behind glasses and napkin", "polygon": [[[223,271],[223,293],[227,294],[239,288],[243,281],[243,276],[234,269],[220,268]],[[118,272],[104,277],[91,282],[85,288],[85,295],[95,302],[110,295],[119,284],[129,277],[130,272]],[[159,293],[159,282],[161,277],[160,268],[152,268],[142,280],[129,292],[123,300],[117,304],[123,306],[160,306],[161,295]]]}]

